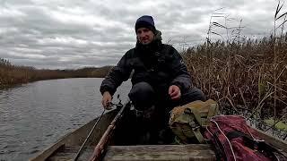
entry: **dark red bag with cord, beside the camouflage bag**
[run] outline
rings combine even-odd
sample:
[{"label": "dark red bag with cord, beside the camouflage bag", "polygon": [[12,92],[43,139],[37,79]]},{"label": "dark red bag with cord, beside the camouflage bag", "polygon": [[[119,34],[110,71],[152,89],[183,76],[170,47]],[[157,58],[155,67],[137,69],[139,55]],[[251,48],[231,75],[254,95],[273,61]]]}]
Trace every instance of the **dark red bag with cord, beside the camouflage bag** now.
[{"label": "dark red bag with cord, beside the camouflage bag", "polygon": [[216,157],[220,160],[287,160],[277,149],[260,140],[257,131],[239,115],[214,116],[204,136],[214,145]]}]

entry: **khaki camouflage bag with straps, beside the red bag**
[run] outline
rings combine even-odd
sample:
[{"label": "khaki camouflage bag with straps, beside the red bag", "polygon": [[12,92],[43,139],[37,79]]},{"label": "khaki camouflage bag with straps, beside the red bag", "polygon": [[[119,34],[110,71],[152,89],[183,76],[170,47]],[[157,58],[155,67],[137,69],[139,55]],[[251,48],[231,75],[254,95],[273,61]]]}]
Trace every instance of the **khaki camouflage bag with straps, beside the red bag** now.
[{"label": "khaki camouflage bag with straps, beside the red bag", "polygon": [[170,129],[178,143],[204,143],[203,127],[218,114],[218,104],[212,99],[197,100],[185,106],[174,107],[170,112]]}]

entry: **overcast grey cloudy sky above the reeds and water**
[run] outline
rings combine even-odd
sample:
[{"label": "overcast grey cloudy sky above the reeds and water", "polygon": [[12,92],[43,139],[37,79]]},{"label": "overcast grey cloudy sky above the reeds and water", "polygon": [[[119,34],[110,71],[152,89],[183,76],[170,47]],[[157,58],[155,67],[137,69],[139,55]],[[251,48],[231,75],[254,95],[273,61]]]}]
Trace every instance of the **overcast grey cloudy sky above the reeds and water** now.
[{"label": "overcast grey cloudy sky above the reeds and water", "polygon": [[[142,15],[152,15],[162,42],[178,51],[204,43],[211,20],[230,28],[213,27],[223,40],[233,38],[232,27],[239,26],[241,38],[261,38],[274,29],[277,4],[276,0],[0,0],[0,58],[38,69],[115,65],[135,47],[135,21]],[[283,11],[287,11],[284,5]]]}]

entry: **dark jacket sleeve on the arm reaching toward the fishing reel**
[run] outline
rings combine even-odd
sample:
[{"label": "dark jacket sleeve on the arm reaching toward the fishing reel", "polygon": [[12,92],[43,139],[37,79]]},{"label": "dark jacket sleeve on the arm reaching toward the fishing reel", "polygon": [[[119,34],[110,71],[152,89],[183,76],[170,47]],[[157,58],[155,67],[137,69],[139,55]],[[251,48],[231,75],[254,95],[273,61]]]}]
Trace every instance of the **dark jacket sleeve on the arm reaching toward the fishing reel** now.
[{"label": "dark jacket sleeve on the arm reaching toward the fishing reel", "polygon": [[128,64],[128,53],[129,52],[126,52],[126,54],[117,63],[117,66],[112,68],[106,78],[102,80],[100,85],[101,94],[105,91],[109,91],[110,95],[114,95],[117,87],[129,78],[132,69]]}]

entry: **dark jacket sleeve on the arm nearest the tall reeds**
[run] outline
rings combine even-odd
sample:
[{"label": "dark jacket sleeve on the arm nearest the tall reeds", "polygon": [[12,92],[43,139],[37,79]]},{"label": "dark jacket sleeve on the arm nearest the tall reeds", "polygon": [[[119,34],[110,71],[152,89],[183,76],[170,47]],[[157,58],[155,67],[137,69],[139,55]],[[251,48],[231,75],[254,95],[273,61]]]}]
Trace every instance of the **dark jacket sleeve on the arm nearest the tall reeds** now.
[{"label": "dark jacket sleeve on the arm nearest the tall reeds", "polygon": [[187,66],[184,64],[181,55],[179,55],[174,47],[171,47],[170,52],[172,54],[171,68],[173,75],[173,80],[170,85],[178,86],[182,92],[186,91],[191,88],[191,77],[187,72]]}]

